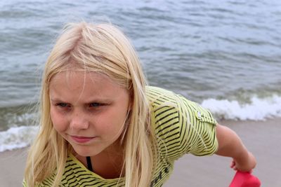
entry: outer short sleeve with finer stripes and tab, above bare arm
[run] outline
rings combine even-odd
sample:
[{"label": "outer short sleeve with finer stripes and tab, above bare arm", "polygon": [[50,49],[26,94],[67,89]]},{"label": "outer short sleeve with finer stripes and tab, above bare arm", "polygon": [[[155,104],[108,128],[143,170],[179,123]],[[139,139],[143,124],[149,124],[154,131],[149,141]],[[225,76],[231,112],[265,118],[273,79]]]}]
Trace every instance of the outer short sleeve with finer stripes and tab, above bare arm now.
[{"label": "outer short sleeve with finer stripes and tab, above bare arm", "polygon": [[178,96],[181,103],[179,104],[179,118],[181,120],[182,132],[185,134],[181,137],[185,146],[185,153],[193,155],[212,155],[216,153],[218,141],[216,139],[216,120],[211,113],[202,108],[199,104]]}]

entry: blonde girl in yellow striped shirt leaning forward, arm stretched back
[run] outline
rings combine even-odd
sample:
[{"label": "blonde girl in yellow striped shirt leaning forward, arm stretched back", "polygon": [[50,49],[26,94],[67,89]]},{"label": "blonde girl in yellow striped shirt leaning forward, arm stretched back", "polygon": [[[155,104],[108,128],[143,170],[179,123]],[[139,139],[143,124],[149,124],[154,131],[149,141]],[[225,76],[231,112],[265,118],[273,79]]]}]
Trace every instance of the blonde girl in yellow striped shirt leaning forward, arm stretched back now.
[{"label": "blonde girl in yellow striped shirt leaning forward, arm stretched back", "polygon": [[146,85],[129,39],[110,24],[65,27],[46,62],[40,113],[24,186],[162,186],[185,153],[256,165],[209,111]]}]

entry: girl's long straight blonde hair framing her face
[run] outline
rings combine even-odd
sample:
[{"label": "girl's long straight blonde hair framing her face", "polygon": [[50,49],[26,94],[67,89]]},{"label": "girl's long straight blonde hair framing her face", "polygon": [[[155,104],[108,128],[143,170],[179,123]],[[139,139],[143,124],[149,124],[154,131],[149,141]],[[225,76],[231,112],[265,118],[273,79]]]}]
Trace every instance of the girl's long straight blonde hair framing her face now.
[{"label": "girl's long straight blonde hair framing her face", "polygon": [[53,186],[58,186],[63,176],[71,147],[53,128],[48,84],[55,74],[67,69],[105,74],[129,90],[132,106],[129,124],[122,134],[122,173],[126,187],[150,186],[156,148],[141,64],[129,39],[117,27],[86,22],[68,24],[46,62],[41,88],[41,127],[27,158],[27,186],[35,186],[54,172]]}]

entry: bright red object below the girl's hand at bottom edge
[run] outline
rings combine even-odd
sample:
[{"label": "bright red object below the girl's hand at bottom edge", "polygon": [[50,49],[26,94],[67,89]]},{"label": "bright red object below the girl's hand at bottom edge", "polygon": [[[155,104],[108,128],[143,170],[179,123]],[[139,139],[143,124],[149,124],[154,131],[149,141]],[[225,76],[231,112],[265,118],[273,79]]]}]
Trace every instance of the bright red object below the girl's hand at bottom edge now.
[{"label": "bright red object below the girl's hand at bottom edge", "polygon": [[236,172],[229,187],[260,187],[261,181],[249,172]]}]

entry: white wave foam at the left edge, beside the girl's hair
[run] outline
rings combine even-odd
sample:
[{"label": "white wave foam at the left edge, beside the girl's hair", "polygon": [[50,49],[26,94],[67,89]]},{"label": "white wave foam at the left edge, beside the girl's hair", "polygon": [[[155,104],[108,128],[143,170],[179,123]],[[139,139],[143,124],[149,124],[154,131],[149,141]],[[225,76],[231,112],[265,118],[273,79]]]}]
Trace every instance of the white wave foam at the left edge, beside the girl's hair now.
[{"label": "white wave foam at the left edge, beside the girl's hair", "polygon": [[38,127],[21,126],[0,132],[0,152],[28,146],[37,131]]}]

